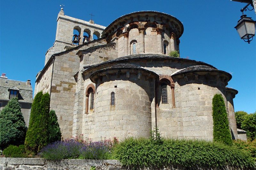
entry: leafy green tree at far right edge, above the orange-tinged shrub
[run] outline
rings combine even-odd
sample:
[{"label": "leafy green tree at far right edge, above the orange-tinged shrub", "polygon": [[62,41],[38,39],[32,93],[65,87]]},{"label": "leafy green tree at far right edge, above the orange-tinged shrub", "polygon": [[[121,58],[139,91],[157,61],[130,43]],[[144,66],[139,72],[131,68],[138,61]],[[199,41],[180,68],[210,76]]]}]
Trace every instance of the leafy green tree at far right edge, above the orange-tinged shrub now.
[{"label": "leafy green tree at far right edge, above the orange-tinged shrub", "polygon": [[247,138],[253,140],[256,138],[256,112],[245,116],[242,122],[242,129],[247,131]]}]

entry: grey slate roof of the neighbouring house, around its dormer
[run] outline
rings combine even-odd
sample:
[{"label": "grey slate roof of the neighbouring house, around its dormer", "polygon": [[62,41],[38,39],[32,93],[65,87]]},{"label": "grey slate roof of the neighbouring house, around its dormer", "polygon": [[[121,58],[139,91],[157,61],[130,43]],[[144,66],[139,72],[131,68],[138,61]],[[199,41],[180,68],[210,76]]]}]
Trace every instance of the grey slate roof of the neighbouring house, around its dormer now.
[{"label": "grey slate roof of the neighbouring house, around its dormer", "polygon": [[9,100],[8,89],[17,88],[19,91],[19,102],[32,103],[33,90],[27,82],[0,78],[0,100]]}]

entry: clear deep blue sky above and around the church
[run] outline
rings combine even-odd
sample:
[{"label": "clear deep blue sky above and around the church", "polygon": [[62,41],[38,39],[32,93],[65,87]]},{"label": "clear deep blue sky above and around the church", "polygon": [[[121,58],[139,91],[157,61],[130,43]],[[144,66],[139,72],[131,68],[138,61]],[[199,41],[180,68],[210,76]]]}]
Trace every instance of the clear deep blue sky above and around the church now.
[{"label": "clear deep blue sky above and around the church", "polygon": [[[180,55],[209,63],[232,74],[228,87],[239,92],[235,111],[256,110],[256,38],[241,40],[234,29],[246,4],[230,0],[169,1],[31,1],[0,0],[0,74],[27,81],[44,67],[45,53],[55,40],[56,19],[64,4],[65,15],[108,26],[116,18],[134,11],[160,11],[178,18],[184,25]],[[251,7],[250,7],[251,8]],[[254,11],[247,16],[256,20]]]}]

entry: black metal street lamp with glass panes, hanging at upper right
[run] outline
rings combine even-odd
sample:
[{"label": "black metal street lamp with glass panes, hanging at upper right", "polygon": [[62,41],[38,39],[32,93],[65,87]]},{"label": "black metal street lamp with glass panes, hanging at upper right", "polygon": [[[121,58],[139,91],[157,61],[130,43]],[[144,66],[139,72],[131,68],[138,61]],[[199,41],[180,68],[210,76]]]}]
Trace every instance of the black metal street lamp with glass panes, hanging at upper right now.
[{"label": "black metal street lamp with glass panes, hanging at upper right", "polygon": [[[242,0],[234,0],[234,1],[241,2]],[[236,31],[238,32],[240,38],[243,39],[245,42],[248,42],[248,44],[250,44],[250,41],[252,41],[252,38],[255,35],[255,23],[256,23],[256,21],[253,21],[252,18],[244,15],[244,11],[246,11],[246,8],[249,5],[252,5],[252,2],[249,2],[244,8],[241,9],[241,12],[243,15],[241,16],[241,19],[239,19],[239,21],[237,22],[237,25],[235,26]]]}]

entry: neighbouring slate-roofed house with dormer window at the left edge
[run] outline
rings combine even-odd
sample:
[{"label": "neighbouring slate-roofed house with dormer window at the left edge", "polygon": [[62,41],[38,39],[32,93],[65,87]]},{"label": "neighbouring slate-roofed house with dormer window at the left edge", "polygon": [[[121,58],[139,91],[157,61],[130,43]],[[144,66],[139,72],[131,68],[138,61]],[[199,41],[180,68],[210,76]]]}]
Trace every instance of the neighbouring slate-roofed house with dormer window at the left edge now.
[{"label": "neighbouring slate-roofed house with dormer window at the left edge", "polygon": [[30,80],[27,80],[27,82],[9,80],[3,73],[0,77],[0,110],[14,97],[19,99],[21,112],[28,127],[31,104],[33,102]]}]

